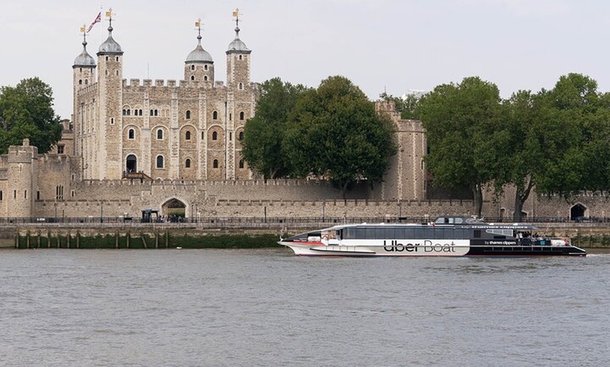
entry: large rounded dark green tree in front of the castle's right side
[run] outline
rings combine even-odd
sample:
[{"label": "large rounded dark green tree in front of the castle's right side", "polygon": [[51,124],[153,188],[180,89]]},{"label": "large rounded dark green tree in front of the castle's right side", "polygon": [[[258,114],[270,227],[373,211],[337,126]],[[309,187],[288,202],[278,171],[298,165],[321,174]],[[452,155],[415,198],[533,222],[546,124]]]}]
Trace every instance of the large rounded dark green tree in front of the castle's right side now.
[{"label": "large rounded dark green tree in front of the castle's right side", "polygon": [[324,176],[345,198],[348,186],[384,178],[396,153],[395,127],[343,76],[304,93],[291,114],[283,151],[296,176]]}]

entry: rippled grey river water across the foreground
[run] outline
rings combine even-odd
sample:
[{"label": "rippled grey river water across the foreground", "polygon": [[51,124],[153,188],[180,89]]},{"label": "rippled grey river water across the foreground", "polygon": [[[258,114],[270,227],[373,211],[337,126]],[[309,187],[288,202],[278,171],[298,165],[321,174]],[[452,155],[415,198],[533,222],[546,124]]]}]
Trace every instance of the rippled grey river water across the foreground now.
[{"label": "rippled grey river water across the foreground", "polygon": [[0,251],[1,366],[609,366],[610,254]]}]

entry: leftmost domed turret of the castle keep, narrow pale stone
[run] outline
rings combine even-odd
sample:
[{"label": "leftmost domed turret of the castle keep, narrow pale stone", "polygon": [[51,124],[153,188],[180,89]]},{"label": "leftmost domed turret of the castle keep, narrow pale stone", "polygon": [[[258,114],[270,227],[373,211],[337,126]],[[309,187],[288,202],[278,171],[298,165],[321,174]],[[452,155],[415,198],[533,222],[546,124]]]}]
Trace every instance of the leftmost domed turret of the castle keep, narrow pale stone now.
[{"label": "leftmost domed turret of the castle keep, narrow pale stone", "polygon": [[[79,98],[79,92],[90,85],[95,84],[95,60],[87,52],[87,33],[85,26],[81,27],[83,32],[83,52],[74,59],[72,65],[72,122],[74,131],[82,134],[83,118],[85,116],[85,104]],[[82,155],[82,147],[79,139],[74,141],[74,151],[66,152],[73,156]]]}]

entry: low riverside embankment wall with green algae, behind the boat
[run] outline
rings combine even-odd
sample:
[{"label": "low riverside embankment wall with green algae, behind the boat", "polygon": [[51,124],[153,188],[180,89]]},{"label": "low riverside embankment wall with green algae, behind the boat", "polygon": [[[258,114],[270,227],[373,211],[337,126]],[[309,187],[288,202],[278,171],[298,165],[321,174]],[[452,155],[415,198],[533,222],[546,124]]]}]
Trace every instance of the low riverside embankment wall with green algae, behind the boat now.
[{"label": "low riverside embankment wall with green algae, behind the boat", "polygon": [[[48,223],[20,224],[18,226],[0,226],[0,247],[62,247],[78,248],[79,239],[112,237],[116,239],[117,248],[125,248],[125,238],[144,237],[144,247],[175,247],[172,239],[192,237],[203,239],[210,236],[244,236],[267,235],[269,246],[282,235],[299,233],[312,228],[333,226],[340,219],[325,221],[299,221],[285,223],[270,220],[268,223],[237,223],[233,221],[215,221],[203,223]],[[570,237],[572,243],[585,248],[610,248],[610,223],[536,223],[540,233],[556,237]],[[128,243],[129,240],[127,240]],[[123,245],[119,245],[121,242]],[[241,247],[237,244],[236,247]],[[247,243],[243,247],[248,247]]]}]

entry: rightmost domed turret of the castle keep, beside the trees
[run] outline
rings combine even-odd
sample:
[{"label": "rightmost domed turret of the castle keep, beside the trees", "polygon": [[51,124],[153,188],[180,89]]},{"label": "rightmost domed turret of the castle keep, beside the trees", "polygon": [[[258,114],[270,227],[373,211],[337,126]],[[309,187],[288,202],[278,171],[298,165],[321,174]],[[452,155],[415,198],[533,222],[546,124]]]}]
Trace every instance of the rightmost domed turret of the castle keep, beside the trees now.
[{"label": "rightmost domed turret of the castle keep, beside the trees", "polygon": [[[239,38],[239,9],[233,11],[235,17],[235,39],[229,43],[226,50],[226,108],[229,111],[227,129],[225,134],[226,146],[226,178],[235,179],[238,169],[243,163],[236,146],[239,133],[243,132],[243,125],[248,118],[254,116],[255,101],[250,85],[250,53]],[[239,145],[239,142],[238,142]],[[243,169],[242,169],[243,170]],[[240,174],[238,174],[240,175]]]}]

